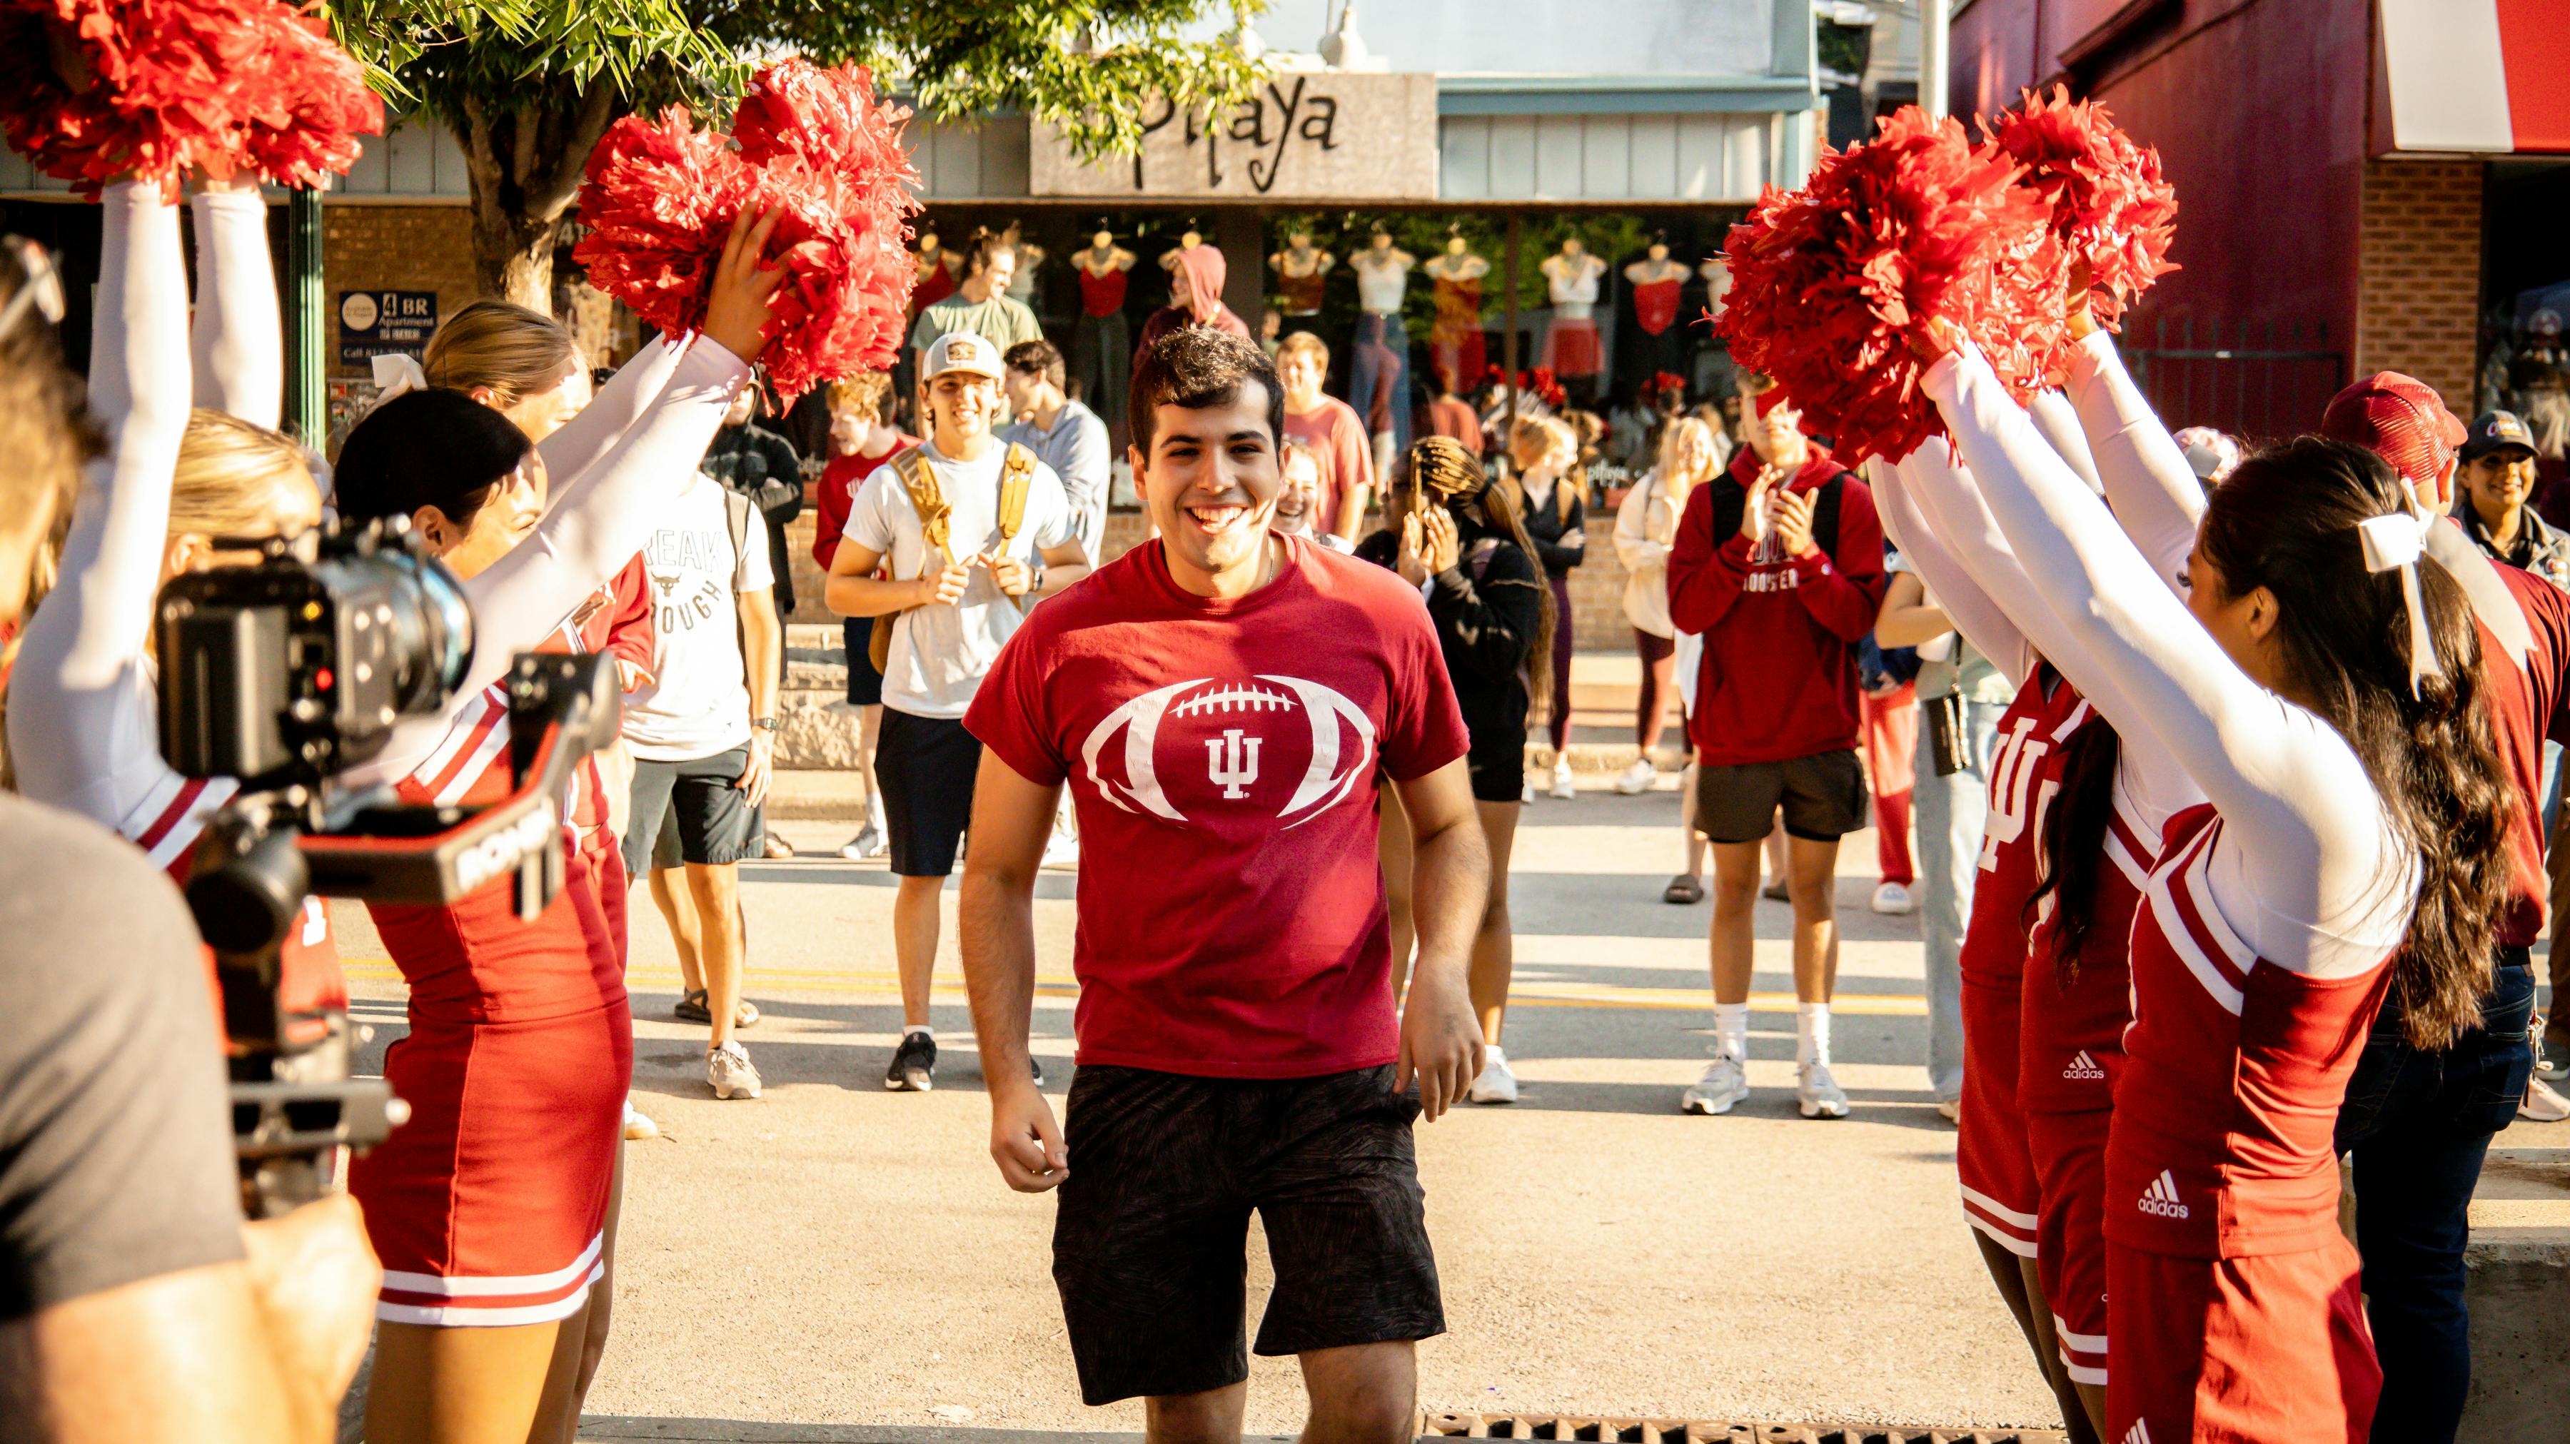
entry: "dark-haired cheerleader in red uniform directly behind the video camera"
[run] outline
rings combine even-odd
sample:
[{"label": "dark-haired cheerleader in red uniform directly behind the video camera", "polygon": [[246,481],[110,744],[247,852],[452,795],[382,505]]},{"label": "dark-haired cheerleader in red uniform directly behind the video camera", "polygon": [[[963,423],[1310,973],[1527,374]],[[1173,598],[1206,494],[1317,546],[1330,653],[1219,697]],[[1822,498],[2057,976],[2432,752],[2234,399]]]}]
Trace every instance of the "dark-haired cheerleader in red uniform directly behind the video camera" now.
[{"label": "dark-haired cheerleader in red uniform directly behind the video camera", "polygon": [[[342,514],[409,516],[478,622],[447,714],[396,730],[357,781],[414,802],[506,791],[501,673],[519,650],[581,645],[573,617],[642,547],[748,383],[781,277],[758,267],[771,224],[732,229],[704,331],[637,357],[547,447],[439,388],[396,396],[350,432]],[[558,457],[568,470],[553,470]],[[583,814],[568,799],[565,817]],[[612,861],[612,830],[599,832]],[[632,1015],[576,825],[565,853],[563,894],[535,922],[504,879],[447,907],[370,904],[411,987],[411,1030],[386,1056],[411,1120],[352,1172],[386,1267],[368,1395],[378,1444],[571,1439],[578,1423]]]}]

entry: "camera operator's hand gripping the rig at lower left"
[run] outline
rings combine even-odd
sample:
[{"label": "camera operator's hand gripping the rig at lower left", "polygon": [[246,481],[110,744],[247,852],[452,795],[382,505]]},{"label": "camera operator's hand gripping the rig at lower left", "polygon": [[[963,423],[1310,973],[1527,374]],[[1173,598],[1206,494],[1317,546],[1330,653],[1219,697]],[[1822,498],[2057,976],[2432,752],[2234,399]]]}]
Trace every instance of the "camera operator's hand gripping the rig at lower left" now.
[{"label": "camera operator's hand gripping the rig at lower left", "polygon": [[365,1341],[375,1331],[375,1290],[383,1267],[365,1241],[357,1200],[347,1195],[306,1202],[285,1218],[242,1226],[249,1251],[249,1287],[267,1321],[278,1375],[301,1411],[326,1421],[357,1377]]}]

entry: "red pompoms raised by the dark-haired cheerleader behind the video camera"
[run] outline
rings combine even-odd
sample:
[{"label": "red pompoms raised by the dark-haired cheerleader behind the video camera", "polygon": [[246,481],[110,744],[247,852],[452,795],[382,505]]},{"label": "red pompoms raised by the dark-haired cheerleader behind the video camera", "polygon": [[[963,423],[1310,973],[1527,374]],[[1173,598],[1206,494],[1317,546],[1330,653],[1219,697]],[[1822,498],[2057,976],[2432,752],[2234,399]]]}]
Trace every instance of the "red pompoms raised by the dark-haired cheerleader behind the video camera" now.
[{"label": "red pompoms raised by the dark-haired cheerleader behind the video camera", "polygon": [[917,175],[902,152],[910,113],[874,100],[858,67],[802,59],[758,72],[738,149],[696,131],[686,108],[617,121],[589,157],[573,257],[589,283],[663,331],[694,331],[732,216],[776,208],[768,257],[786,267],[766,349],[784,398],[900,355],[915,267],[907,216]]}]

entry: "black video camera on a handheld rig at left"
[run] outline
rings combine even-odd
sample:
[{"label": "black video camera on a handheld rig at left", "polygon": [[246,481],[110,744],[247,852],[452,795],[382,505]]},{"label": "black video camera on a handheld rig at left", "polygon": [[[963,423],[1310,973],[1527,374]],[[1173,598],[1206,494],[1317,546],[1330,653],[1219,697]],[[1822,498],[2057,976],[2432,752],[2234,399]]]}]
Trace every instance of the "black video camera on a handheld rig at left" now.
[{"label": "black video camera on a handheld rig at left", "polygon": [[565,781],[614,743],[619,691],[599,655],[522,653],[504,678],[509,797],[445,807],[347,786],[463,683],[463,586],[398,519],[216,547],[257,560],[162,588],[159,743],[182,776],[239,784],[198,840],[188,910],[224,997],[244,1208],[267,1218],[329,1192],[347,1151],[409,1115],[383,1079],[350,1077],[344,987],[314,976],[337,964],[285,946],[303,899],[434,907],[514,874],[519,917],[537,917],[563,889]]}]

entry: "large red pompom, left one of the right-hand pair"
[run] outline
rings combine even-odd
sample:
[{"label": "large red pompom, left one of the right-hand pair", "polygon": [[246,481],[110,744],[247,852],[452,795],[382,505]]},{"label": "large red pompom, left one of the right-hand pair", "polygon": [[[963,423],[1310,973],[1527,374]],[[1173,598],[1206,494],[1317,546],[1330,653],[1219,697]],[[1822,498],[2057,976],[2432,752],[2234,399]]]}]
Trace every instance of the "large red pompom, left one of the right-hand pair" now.
[{"label": "large red pompom, left one of the right-hand pair", "polygon": [[[1874,141],[1822,152],[1794,193],[1768,188],[1724,244],[1714,331],[1766,373],[1848,465],[1899,460],[1945,427],[1912,342],[1948,321],[2023,398],[2061,324],[2061,249],[2043,200],[1997,146],[1904,105]],[[2046,285],[2051,293],[2046,293]]]}]

